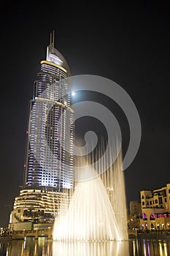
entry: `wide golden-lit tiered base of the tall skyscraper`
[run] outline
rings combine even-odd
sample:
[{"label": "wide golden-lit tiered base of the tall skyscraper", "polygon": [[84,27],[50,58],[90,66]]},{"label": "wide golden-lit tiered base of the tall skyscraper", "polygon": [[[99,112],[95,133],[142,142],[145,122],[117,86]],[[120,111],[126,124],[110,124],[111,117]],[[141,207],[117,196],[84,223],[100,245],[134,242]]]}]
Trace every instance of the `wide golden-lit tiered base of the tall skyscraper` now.
[{"label": "wide golden-lit tiered base of the tall skyscraper", "polygon": [[[13,211],[9,219],[9,229],[33,230],[39,227],[53,225],[58,211],[69,203],[65,192],[47,191],[46,189],[22,189],[15,197]],[[38,227],[38,226],[37,226]]]}]

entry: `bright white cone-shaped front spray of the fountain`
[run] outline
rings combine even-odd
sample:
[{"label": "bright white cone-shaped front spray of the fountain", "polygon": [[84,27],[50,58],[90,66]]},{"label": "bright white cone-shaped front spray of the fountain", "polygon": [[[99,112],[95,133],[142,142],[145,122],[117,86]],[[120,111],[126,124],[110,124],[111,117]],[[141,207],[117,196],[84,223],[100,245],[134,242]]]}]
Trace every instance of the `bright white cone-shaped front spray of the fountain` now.
[{"label": "bright white cone-shaped front spray of the fountain", "polygon": [[[87,170],[95,175],[94,170]],[[64,212],[63,212],[64,213]],[[100,177],[77,183],[69,209],[55,222],[55,240],[120,240],[115,214]]]}]

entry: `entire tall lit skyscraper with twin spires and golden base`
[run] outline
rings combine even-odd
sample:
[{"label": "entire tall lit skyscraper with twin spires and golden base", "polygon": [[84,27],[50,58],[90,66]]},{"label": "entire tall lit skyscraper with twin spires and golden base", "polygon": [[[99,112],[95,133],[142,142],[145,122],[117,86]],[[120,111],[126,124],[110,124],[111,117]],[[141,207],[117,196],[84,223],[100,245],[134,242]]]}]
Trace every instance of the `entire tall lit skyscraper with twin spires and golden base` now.
[{"label": "entire tall lit skyscraper with twin spires and golden base", "polygon": [[73,188],[74,110],[65,80],[70,75],[53,32],[29,104],[23,186],[15,197],[11,230],[53,225]]}]

